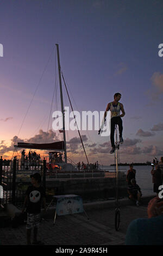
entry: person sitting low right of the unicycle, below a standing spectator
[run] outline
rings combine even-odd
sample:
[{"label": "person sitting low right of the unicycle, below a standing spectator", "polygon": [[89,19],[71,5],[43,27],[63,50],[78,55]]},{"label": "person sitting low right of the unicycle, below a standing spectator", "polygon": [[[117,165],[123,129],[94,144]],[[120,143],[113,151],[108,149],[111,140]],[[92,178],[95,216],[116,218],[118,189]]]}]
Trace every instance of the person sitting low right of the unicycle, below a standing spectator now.
[{"label": "person sitting low right of the unicycle, below a standing spectator", "polygon": [[131,184],[128,186],[127,192],[129,194],[129,199],[133,200],[134,203],[137,206],[139,206],[142,193],[141,193],[141,189],[140,189],[139,185],[136,184],[135,179],[131,179]]}]

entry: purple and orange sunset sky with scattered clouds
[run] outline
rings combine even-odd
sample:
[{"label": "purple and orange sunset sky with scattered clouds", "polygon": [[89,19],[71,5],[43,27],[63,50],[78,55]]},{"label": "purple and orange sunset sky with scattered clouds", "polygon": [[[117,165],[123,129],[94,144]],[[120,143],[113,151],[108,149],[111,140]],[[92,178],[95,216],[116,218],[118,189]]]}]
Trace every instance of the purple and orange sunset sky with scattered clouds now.
[{"label": "purple and orange sunset sky with scattered clouds", "polygon": [[[1,0],[0,25],[3,158],[11,158],[16,142],[62,139],[52,130],[52,113],[60,110],[55,44],[74,110],[105,111],[114,94],[122,94],[120,161],[163,156],[162,0]],[[114,163],[110,137],[81,135],[90,163]],[[68,156],[86,162],[78,132],[66,138]]]}]

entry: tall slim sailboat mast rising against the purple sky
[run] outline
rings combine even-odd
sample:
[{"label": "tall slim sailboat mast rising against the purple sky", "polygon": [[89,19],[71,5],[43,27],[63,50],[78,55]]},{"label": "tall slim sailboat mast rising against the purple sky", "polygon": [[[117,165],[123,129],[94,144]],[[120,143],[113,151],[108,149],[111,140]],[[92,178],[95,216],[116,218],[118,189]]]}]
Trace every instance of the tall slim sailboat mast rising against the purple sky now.
[{"label": "tall slim sailboat mast rising against the purple sky", "polygon": [[67,151],[66,151],[66,134],[65,134],[65,113],[64,113],[64,102],[62,95],[62,82],[61,82],[61,72],[60,72],[60,58],[59,58],[59,45],[57,46],[57,57],[58,57],[58,72],[59,72],[59,86],[60,86],[60,99],[61,99],[61,111],[63,115],[63,130],[64,130],[64,144],[65,144],[65,163],[67,163]]}]

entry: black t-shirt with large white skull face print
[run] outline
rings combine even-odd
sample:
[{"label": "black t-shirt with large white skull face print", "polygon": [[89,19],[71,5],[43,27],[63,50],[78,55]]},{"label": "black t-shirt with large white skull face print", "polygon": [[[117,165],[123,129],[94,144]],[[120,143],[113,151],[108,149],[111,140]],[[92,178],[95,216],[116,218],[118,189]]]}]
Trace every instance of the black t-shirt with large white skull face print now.
[{"label": "black t-shirt with large white skull face print", "polygon": [[28,197],[27,212],[29,214],[39,214],[41,212],[42,198],[45,197],[44,188],[42,186],[29,186],[26,195]]}]

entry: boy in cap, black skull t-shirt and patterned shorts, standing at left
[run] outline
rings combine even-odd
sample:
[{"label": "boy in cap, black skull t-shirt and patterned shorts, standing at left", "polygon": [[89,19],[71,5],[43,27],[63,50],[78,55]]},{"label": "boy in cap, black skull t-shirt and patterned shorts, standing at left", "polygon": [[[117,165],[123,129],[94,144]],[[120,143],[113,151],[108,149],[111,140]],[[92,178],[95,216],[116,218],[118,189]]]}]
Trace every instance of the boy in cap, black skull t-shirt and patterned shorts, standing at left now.
[{"label": "boy in cap, black skull t-shirt and patterned shorts, standing at left", "polygon": [[27,211],[27,245],[31,245],[30,234],[32,228],[34,228],[34,240],[33,245],[41,245],[41,241],[37,241],[37,230],[40,224],[41,204],[46,211],[46,194],[44,188],[41,186],[41,175],[35,173],[30,175],[31,183],[26,191],[26,198],[24,200],[24,206],[22,213],[26,209]]}]

